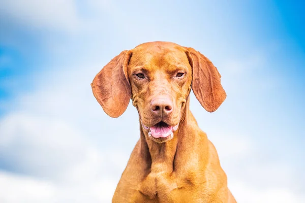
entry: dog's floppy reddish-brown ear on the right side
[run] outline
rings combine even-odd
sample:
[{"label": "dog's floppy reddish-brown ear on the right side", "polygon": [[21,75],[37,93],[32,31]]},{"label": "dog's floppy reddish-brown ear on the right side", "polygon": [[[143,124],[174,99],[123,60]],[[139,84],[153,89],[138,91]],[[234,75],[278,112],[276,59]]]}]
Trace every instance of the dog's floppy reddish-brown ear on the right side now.
[{"label": "dog's floppy reddish-brown ear on the right side", "polygon": [[187,48],[186,53],[193,69],[193,92],[206,111],[214,112],[227,96],[220,84],[221,75],[213,63],[199,51]]}]

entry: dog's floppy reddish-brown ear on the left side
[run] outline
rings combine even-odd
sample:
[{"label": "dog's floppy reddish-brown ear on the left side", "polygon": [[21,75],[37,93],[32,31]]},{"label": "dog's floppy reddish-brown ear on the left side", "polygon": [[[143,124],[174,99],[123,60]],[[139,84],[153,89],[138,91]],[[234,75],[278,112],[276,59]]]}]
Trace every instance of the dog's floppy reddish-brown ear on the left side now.
[{"label": "dog's floppy reddish-brown ear on the left side", "polygon": [[104,66],[91,83],[94,96],[112,118],[125,112],[131,98],[127,75],[130,57],[130,51],[122,51]]}]

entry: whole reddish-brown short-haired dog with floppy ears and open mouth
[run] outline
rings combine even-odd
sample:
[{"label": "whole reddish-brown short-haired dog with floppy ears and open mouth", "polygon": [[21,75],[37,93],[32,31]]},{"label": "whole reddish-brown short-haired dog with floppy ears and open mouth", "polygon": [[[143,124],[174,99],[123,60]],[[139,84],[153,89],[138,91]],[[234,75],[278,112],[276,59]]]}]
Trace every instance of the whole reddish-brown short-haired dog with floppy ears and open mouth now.
[{"label": "whole reddish-brown short-haired dog with floppy ears and open mouth", "polygon": [[132,99],[141,126],[112,202],[236,202],[189,110],[191,88],[206,111],[218,109],[220,77],[204,55],[169,42],[123,51],[97,74],[92,89],[106,114],[120,116]]}]

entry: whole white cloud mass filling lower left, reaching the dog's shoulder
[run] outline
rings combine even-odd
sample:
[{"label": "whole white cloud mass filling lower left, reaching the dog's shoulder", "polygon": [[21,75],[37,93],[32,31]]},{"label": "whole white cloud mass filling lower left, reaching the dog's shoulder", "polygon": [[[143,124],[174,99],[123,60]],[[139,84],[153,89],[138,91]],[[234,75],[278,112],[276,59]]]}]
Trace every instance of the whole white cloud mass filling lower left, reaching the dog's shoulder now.
[{"label": "whole white cloud mass filling lower left, reaching the dog's shoulder", "polygon": [[110,202],[128,157],[102,152],[78,131],[43,116],[0,121],[0,162],[27,174],[0,173],[1,202]]}]

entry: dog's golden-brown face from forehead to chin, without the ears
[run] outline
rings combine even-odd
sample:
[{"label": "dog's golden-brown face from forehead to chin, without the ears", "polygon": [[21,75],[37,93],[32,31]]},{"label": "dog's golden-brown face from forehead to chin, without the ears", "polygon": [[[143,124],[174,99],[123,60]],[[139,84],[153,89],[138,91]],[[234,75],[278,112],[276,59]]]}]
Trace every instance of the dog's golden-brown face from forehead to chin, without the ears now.
[{"label": "dog's golden-brown face from forehead to chin, without the ears", "polygon": [[140,45],[132,51],[128,77],[143,129],[156,142],[171,139],[191,90],[192,67],[184,50]]}]

